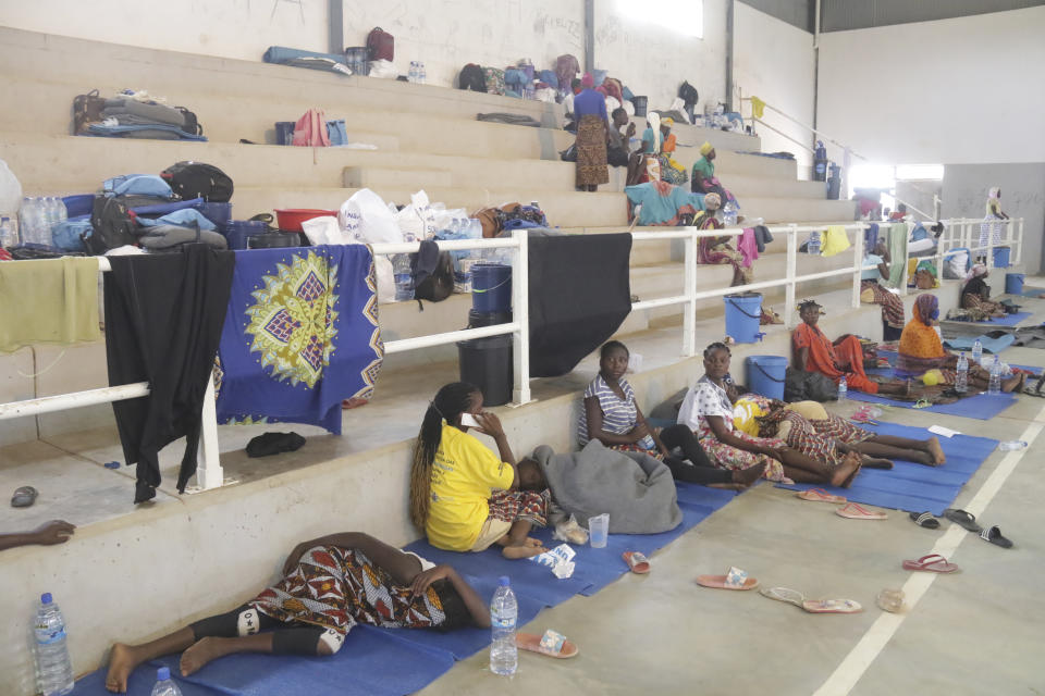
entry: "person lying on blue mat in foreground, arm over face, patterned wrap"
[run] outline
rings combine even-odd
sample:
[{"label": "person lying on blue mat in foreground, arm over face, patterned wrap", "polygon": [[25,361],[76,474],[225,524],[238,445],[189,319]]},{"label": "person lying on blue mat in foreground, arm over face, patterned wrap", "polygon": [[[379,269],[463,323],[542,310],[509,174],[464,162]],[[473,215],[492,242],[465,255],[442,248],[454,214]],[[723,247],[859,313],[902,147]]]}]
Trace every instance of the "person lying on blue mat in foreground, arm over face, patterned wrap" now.
[{"label": "person lying on blue mat in foreground, arm over face, patterned wrap", "polygon": [[[322,585],[322,591],[316,588]],[[136,667],[183,652],[184,676],[236,652],[325,656],[356,624],[390,629],[490,627],[485,601],[450,566],[435,566],[358,532],[294,547],[283,580],[232,611],[140,645],[116,643],[106,688],[123,694]]]}]

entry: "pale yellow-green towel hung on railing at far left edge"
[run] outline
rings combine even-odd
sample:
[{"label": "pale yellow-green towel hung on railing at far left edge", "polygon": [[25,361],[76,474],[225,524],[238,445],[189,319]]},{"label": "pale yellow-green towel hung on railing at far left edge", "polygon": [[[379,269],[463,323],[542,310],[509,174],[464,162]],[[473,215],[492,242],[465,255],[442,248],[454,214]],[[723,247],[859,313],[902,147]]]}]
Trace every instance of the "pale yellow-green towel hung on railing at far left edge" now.
[{"label": "pale yellow-green towel hung on railing at far left edge", "polygon": [[0,261],[0,352],[100,337],[97,259]]}]

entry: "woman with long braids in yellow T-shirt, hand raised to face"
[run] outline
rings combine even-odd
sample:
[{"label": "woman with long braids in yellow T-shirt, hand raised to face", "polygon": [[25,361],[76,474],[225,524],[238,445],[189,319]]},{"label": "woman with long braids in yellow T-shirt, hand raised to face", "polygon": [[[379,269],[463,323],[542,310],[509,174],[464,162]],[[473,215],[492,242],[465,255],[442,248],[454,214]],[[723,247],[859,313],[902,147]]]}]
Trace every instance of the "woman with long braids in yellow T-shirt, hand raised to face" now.
[{"label": "woman with long braids in yellow T-shirt, hand raised to face", "polygon": [[[500,457],[469,427],[492,437]],[[526,489],[539,473],[534,468],[516,465],[501,421],[482,410],[477,386],[447,384],[429,403],[414,445],[410,519],[437,548],[484,551],[496,544],[505,558],[542,554],[529,532],[548,523],[550,494]]]}]

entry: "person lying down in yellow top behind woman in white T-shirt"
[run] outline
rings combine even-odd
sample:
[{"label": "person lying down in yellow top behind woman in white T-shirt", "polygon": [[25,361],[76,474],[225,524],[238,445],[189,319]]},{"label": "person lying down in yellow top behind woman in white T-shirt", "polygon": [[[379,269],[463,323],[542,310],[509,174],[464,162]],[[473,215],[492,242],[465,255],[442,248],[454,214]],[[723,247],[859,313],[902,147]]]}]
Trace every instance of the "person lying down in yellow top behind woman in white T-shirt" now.
[{"label": "person lying down in yellow top behind woman in white T-shirt", "polygon": [[800,452],[834,465],[850,451],[859,453],[862,465],[869,469],[892,469],[895,459],[926,467],[947,461],[936,437],[880,435],[828,412],[819,401],[785,403],[758,394],[745,394],[738,403],[743,401],[757,405],[761,414],[752,413],[753,423],[738,424],[735,413],[737,427],[759,437],[778,437]]}]

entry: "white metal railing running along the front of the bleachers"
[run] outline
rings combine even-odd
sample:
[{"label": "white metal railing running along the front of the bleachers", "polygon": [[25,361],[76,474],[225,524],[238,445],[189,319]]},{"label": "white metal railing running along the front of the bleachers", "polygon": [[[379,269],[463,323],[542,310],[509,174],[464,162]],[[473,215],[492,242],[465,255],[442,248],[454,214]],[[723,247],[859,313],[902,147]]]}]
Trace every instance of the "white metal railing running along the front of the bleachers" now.
[{"label": "white metal railing running along the front of the bleachers", "polygon": [[[994,240],[991,235],[987,237],[986,245],[979,245],[980,224],[982,220],[958,219],[945,221],[945,232],[941,235],[937,243],[937,249],[934,257],[937,261],[937,268],[942,270],[942,264],[947,256],[954,253],[957,247],[969,248],[972,253],[985,251],[987,263],[994,265]],[[991,221],[1004,226],[1005,234],[1000,240],[1001,244],[1015,248],[1012,263],[1019,263],[1022,254],[1023,243],[1023,219],[1007,221]],[[803,233],[823,232],[828,226],[840,226],[846,229],[846,234],[852,234],[851,253],[852,263],[841,269],[831,271],[821,271],[816,273],[807,273],[798,275],[798,235]],[[684,243],[684,284],[683,294],[671,297],[662,297],[650,300],[642,300],[631,304],[632,311],[651,310],[663,307],[683,306],[683,351],[684,357],[697,355],[697,302],[702,299],[722,297],[734,293],[743,293],[749,290],[764,290],[774,287],[785,288],[785,310],[784,323],[787,328],[794,327],[795,320],[795,288],[801,283],[817,281],[831,277],[850,276],[852,279],[851,306],[860,306],[860,285],[862,272],[873,270],[875,265],[862,264],[864,258],[864,229],[865,222],[843,222],[843,223],[817,223],[812,225],[773,225],[769,229],[773,235],[786,235],[787,241],[787,261],[785,274],[782,278],[770,281],[760,281],[748,285],[722,287],[709,290],[697,289],[697,250],[700,240],[709,237],[737,237],[743,234],[739,227],[728,227],[724,229],[701,231],[696,227],[684,227],[675,229],[665,229],[664,232],[635,232],[631,233],[635,243],[655,241],[662,239],[681,239]],[[972,239],[976,239],[976,245]],[[452,241],[440,241],[440,249],[444,251],[459,251],[468,249],[512,249],[512,303],[513,319],[506,324],[495,324],[492,326],[482,326],[479,328],[465,328],[460,331],[444,332],[440,334],[430,334],[414,338],[402,338],[389,340],[384,344],[384,351],[388,355],[405,352],[407,350],[417,350],[433,346],[444,346],[454,344],[458,340],[468,340],[472,338],[484,338],[488,336],[501,336],[512,334],[513,337],[513,360],[514,360],[514,385],[513,399],[514,405],[519,406],[531,400],[530,394],[530,350],[529,350],[529,244],[528,231],[516,229],[511,238],[497,239],[459,239]],[[371,245],[374,254],[396,254],[410,253],[419,249],[419,243],[406,244],[377,244]],[[848,252],[848,251],[847,251]],[[912,257],[913,258],[913,257]],[[906,260],[905,260],[906,261]],[[109,260],[104,257],[98,258],[100,272],[110,270]],[[907,269],[908,263],[903,263],[903,273],[901,277],[899,291],[907,291]],[[103,387],[99,389],[88,389],[86,391],[75,391],[57,396],[41,397],[37,399],[26,399],[22,401],[12,401],[0,403],[0,421],[13,418],[39,415],[84,406],[98,403],[111,403],[124,399],[134,399],[149,394],[149,385],[145,382],[136,384],[126,384],[115,387]],[[218,425],[217,412],[214,406],[213,381],[207,388],[202,407],[202,432],[200,436],[200,451],[198,455],[197,468],[197,487],[200,490],[217,488],[224,483],[223,471],[219,460],[218,449]]]}]

